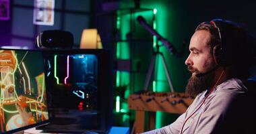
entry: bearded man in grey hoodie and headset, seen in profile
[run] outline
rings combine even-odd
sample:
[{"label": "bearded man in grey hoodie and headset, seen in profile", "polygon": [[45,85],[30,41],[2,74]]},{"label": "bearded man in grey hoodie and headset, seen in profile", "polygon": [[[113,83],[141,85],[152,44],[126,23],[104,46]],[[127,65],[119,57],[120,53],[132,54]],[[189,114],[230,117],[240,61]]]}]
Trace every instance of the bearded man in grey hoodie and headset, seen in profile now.
[{"label": "bearded man in grey hoodie and headset, seen in profile", "polygon": [[256,86],[255,80],[253,84],[247,80],[255,63],[249,37],[232,21],[200,23],[185,61],[191,72],[186,92],[195,100],[174,123],[146,134],[252,133],[249,90]]}]

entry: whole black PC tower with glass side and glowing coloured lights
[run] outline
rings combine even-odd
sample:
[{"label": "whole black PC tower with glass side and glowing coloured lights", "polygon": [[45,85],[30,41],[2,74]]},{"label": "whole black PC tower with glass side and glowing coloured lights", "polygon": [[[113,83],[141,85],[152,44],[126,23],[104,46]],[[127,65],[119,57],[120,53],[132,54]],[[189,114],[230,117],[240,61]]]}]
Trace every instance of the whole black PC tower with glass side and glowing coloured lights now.
[{"label": "whole black PC tower with glass side and glowing coloured lights", "polygon": [[51,123],[45,132],[105,133],[112,125],[113,70],[108,50],[44,52]]}]

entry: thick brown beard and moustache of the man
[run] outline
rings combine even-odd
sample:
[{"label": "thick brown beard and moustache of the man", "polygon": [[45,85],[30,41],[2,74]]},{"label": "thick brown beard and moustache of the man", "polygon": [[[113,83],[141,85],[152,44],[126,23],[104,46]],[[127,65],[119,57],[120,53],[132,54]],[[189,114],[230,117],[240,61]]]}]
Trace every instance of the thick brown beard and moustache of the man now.
[{"label": "thick brown beard and moustache of the man", "polygon": [[197,75],[197,74],[201,74],[201,72],[199,72],[199,70],[192,68],[191,66],[188,66],[188,70],[191,73],[193,73],[193,72],[196,73],[196,75],[192,75],[191,78],[189,78],[189,81],[187,82],[186,92],[189,95],[195,97],[199,93],[210,88],[210,86],[212,84],[212,80],[214,78],[215,71],[212,71],[212,72],[209,72],[209,73],[199,76],[199,75]]}]

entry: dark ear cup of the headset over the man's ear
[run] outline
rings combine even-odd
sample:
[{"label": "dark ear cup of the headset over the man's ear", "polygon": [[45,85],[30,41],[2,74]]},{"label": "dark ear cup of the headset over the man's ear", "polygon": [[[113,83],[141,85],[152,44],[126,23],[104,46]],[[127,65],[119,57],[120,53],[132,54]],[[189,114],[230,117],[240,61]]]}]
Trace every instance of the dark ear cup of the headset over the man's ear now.
[{"label": "dark ear cup of the headset over the man's ear", "polygon": [[222,47],[220,45],[214,46],[213,55],[214,55],[214,62],[217,65],[222,66],[224,64],[224,62],[222,61],[223,53],[222,53]]}]

